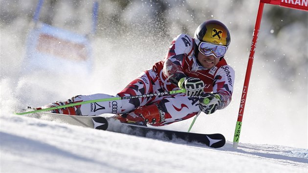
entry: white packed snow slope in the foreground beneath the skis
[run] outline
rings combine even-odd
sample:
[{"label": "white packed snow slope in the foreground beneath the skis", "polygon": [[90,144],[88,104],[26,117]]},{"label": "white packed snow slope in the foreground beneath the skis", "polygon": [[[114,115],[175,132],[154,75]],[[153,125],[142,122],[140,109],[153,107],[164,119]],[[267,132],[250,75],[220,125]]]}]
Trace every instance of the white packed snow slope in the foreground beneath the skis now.
[{"label": "white packed snow slope in the foreground beneath the skis", "polygon": [[278,145],[240,143],[211,149],[10,113],[1,115],[4,172],[241,172],[307,173],[308,152]]}]

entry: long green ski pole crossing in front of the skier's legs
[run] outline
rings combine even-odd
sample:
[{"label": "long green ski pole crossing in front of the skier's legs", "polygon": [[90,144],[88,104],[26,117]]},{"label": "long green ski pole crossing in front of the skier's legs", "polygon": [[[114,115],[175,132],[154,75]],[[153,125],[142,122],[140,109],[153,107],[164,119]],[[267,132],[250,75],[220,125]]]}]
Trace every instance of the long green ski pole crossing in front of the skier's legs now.
[{"label": "long green ski pole crossing in front of the skier's legs", "polygon": [[88,101],[84,101],[84,102],[71,103],[71,104],[57,106],[57,107],[44,108],[44,109],[39,109],[39,110],[32,110],[32,111],[28,111],[28,112],[20,112],[20,113],[14,112],[14,114],[24,115],[24,114],[43,112],[43,111],[54,110],[54,109],[59,109],[59,108],[67,108],[67,107],[73,107],[73,106],[77,106],[77,105],[84,105],[84,104],[94,103],[94,102],[106,102],[106,101],[133,99],[133,98],[142,98],[142,97],[153,97],[153,96],[170,95],[170,94],[177,94],[177,93],[183,93],[183,92],[186,92],[186,90],[185,89],[179,89],[179,90],[174,90],[174,91],[157,92],[157,93],[152,93],[152,94],[142,94],[142,95],[135,95],[135,96],[112,97],[112,98],[105,98],[105,99],[88,100]]}]

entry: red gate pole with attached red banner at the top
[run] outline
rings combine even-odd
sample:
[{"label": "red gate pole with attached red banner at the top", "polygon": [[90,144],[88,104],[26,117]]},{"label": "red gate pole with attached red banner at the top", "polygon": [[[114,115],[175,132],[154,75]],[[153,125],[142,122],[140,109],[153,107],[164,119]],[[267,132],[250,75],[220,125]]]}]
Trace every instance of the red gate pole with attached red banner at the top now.
[{"label": "red gate pole with attached red banner at the top", "polygon": [[233,148],[238,147],[239,140],[240,140],[240,134],[241,134],[241,128],[242,128],[242,118],[243,118],[243,113],[244,113],[244,108],[245,108],[245,103],[246,103],[246,96],[247,96],[247,91],[248,91],[248,85],[249,85],[249,80],[250,80],[250,74],[251,74],[254,54],[255,54],[256,47],[257,47],[257,40],[258,40],[258,34],[259,34],[259,29],[260,29],[260,24],[261,24],[261,19],[262,19],[264,3],[308,11],[308,0],[260,0],[257,20],[256,20],[254,32],[253,32],[251,47],[250,47],[250,55],[248,59],[247,69],[246,69],[244,86],[242,90],[242,97],[241,97],[241,104],[240,104],[240,109],[239,109],[239,114],[238,114],[238,120],[236,123],[235,132],[234,132]]}]

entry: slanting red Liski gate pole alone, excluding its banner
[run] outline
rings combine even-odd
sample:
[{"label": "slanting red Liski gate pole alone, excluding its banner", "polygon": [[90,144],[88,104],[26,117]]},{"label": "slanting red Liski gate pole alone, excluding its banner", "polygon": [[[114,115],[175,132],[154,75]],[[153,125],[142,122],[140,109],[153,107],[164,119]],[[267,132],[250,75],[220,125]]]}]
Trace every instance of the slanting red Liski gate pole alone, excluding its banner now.
[{"label": "slanting red Liski gate pole alone, excluding its banner", "polygon": [[258,40],[258,34],[259,34],[259,29],[260,29],[260,24],[261,24],[261,19],[262,19],[263,7],[264,7],[264,3],[260,2],[258,14],[257,14],[257,20],[255,24],[255,29],[253,32],[252,43],[250,47],[250,55],[248,59],[247,69],[246,69],[244,86],[242,90],[240,110],[239,110],[238,120],[236,123],[235,132],[234,132],[233,148],[237,148],[239,145],[241,128],[242,128],[242,118],[243,118],[243,113],[244,113],[244,108],[245,108],[245,103],[246,103],[246,97],[247,97],[247,91],[248,91],[248,85],[249,85],[249,80],[250,80],[253,59],[254,59],[254,55],[255,55],[255,51],[257,47],[257,40]]}]

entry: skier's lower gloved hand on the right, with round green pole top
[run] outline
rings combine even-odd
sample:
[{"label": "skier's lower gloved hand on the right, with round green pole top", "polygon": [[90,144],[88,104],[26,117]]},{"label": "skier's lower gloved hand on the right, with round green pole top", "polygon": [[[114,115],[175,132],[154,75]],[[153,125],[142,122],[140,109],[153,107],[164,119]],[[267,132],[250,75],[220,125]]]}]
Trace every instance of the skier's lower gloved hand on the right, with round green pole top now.
[{"label": "skier's lower gloved hand on the right, with round green pole top", "polygon": [[204,93],[199,99],[199,108],[206,114],[214,113],[220,104],[220,95]]}]

